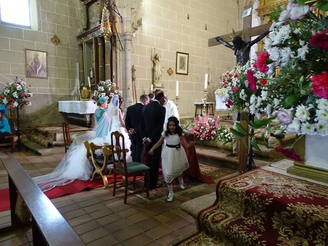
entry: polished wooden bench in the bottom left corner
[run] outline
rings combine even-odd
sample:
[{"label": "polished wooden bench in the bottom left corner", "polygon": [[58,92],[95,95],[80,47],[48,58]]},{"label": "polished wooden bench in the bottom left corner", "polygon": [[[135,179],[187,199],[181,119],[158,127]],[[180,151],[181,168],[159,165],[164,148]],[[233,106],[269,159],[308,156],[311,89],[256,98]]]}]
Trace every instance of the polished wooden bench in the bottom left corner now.
[{"label": "polished wooden bench in the bottom left corner", "polygon": [[[22,166],[13,157],[1,160],[8,172],[11,226],[0,229],[0,234],[31,224],[33,245],[86,245]],[[30,223],[15,214],[17,192],[31,213]]]}]

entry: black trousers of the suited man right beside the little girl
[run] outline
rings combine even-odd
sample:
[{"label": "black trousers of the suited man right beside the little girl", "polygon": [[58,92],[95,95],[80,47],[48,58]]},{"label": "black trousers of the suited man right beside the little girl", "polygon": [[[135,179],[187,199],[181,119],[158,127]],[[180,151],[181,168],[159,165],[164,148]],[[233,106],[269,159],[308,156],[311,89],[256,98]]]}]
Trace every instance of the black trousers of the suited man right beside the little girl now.
[{"label": "black trousers of the suited man right beside the little girl", "polygon": [[162,146],[159,146],[157,149],[154,150],[154,154],[148,154],[148,151],[150,151],[150,149],[156,144],[156,142],[157,141],[153,141],[149,146],[146,146],[147,166],[150,168],[150,189],[154,189],[157,185],[158,169],[162,153]]}]

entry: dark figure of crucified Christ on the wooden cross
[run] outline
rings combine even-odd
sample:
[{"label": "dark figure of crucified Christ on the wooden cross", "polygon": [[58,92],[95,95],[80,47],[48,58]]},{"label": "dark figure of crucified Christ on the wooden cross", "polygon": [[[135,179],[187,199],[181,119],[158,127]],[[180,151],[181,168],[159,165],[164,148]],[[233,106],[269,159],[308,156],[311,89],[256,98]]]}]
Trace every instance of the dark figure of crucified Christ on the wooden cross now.
[{"label": "dark figure of crucified Christ on the wooden cross", "polygon": [[244,40],[242,40],[240,34],[236,35],[235,31],[233,30],[234,37],[232,38],[233,45],[229,44],[228,42],[224,41],[221,37],[217,36],[215,37],[215,40],[217,42],[220,42],[222,45],[232,49],[235,52],[235,56],[237,58],[237,65],[245,65],[247,61],[250,59],[250,50],[251,47],[262,40],[265,36],[269,34],[269,30],[264,32],[263,34],[259,35],[254,40],[245,43]]}]

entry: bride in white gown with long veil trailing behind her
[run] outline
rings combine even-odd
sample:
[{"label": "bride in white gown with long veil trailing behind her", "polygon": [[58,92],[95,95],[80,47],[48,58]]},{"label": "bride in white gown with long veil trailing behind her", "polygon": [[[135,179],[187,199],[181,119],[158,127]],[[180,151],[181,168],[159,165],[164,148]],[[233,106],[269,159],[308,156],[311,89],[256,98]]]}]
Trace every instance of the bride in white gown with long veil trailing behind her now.
[{"label": "bride in white gown with long veil trailing behind her", "polygon": [[[100,103],[102,103],[101,105],[106,105],[107,100],[100,98]],[[33,178],[42,191],[49,191],[56,186],[65,186],[75,179],[88,180],[90,178],[93,167],[86,156],[86,148],[83,143],[86,140],[93,142],[95,145],[104,145],[104,143],[111,143],[112,132],[119,131],[124,135],[125,148],[130,149],[131,143],[124,127],[119,104],[119,96],[114,95],[96,126],[92,131],[77,136],[73,140],[72,145],[58,166],[49,174]],[[127,153],[127,161],[132,161],[130,152]]]}]

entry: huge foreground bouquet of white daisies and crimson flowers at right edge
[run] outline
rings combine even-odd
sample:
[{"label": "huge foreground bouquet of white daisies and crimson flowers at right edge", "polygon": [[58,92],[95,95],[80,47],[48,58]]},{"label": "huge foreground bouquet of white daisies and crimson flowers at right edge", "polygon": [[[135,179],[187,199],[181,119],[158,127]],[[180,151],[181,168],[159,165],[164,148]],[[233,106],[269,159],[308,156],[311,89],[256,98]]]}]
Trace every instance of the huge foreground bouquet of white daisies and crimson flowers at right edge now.
[{"label": "huge foreground bouquet of white daisies and crimson flowers at right edge", "polygon": [[[302,1],[304,2],[304,1]],[[316,2],[316,1],[313,1]],[[328,19],[290,1],[274,22],[257,67],[269,75],[271,105],[280,133],[328,135]],[[269,81],[268,80],[268,81]],[[288,86],[286,86],[288,85]],[[257,104],[262,102],[256,101]]]}]

